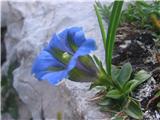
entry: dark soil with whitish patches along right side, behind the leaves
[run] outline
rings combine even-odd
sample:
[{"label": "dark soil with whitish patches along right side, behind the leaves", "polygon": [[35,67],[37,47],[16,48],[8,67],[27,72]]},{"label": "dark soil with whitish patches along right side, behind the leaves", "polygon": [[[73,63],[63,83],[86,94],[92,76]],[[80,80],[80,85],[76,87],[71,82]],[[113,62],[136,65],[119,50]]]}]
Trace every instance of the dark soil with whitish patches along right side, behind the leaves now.
[{"label": "dark soil with whitish patches along right side, behind the leaves", "polygon": [[[134,26],[128,25],[119,28],[112,63],[123,65],[130,62],[134,72],[144,69],[151,73],[154,78],[153,81],[146,81],[140,85],[135,91],[135,96],[139,96],[139,91],[143,93],[146,92],[145,89],[149,90],[146,96],[139,97],[142,98],[140,102],[144,113],[147,112],[144,120],[158,120],[159,118],[156,119],[156,115],[158,112],[160,115],[160,110],[156,107],[160,97],[155,98],[156,92],[160,90],[160,53],[157,51],[154,37],[150,31],[136,30]],[[137,97],[137,99],[139,98]],[[151,117],[148,117],[148,115]]]}]

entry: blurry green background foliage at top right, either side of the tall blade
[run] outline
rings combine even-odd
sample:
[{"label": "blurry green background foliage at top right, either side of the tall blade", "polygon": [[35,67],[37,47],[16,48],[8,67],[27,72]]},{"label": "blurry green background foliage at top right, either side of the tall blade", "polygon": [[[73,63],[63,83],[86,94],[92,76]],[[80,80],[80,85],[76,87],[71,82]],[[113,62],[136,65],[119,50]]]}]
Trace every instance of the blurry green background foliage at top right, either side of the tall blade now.
[{"label": "blurry green background foliage at top right, either side of the tall blade", "polygon": [[[101,5],[100,2],[96,3],[102,18],[108,23],[106,18],[110,19],[111,10],[106,5]],[[154,1],[150,4],[147,1],[135,1],[127,5],[128,7],[122,11],[120,24],[133,23],[137,27],[143,29],[155,30],[154,23],[151,24],[150,16],[155,14],[160,16],[160,2]],[[149,26],[149,27],[148,27]],[[150,27],[151,26],[151,27]],[[159,29],[155,32],[159,32]]]}]

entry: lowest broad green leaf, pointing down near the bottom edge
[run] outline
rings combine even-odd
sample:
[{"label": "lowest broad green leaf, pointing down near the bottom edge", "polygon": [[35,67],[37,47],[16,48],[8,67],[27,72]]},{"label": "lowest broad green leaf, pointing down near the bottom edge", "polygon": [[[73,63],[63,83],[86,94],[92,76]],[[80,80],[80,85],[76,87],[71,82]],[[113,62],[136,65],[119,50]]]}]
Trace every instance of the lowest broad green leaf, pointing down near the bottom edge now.
[{"label": "lowest broad green leaf, pointing down near the bottom edge", "polygon": [[143,113],[141,110],[140,103],[136,100],[131,100],[128,106],[124,110],[127,115],[135,119],[143,119]]}]

